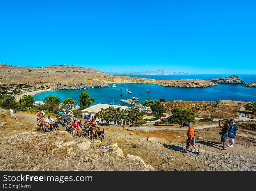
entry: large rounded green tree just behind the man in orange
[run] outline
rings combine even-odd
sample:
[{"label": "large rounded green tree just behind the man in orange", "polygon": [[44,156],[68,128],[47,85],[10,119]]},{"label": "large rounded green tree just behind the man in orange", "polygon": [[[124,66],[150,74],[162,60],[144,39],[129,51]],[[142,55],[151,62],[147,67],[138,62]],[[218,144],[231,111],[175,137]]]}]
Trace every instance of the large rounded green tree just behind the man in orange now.
[{"label": "large rounded green tree just behind the man in orange", "polygon": [[195,112],[189,108],[178,107],[171,112],[173,122],[180,123],[180,126],[182,126],[183,122],[195,122]]}]

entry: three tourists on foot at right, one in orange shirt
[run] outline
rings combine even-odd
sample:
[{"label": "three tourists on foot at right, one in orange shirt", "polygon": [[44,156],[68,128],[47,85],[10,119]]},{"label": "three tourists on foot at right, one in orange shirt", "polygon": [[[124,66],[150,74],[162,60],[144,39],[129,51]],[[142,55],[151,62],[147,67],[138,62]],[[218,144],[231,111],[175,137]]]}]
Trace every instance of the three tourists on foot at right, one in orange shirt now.
[{"label": "three tourists on foot at right, one in orange shirt", "polygon": [[[222,126],[223,124],[224,126]],[[188,139],[186,141],[186,149],[182,152],[187,153],[190,146],[193,146],[195,149],[195,154],[199,154],[198,149],[195,147],[195,130],[192,127],[191,123],[186,124],[188,126]],[[235,119],[231,118],[230,120],[227,119],[225,123],[220,119],[219,120],[219,127],[222,128],[222,130],[219,132],[221,135],[221,142],[223,143],[223,149],[220,149],[221,151],[226,151],[226,140],[229,138],[229,143],[227,143],[228,147],[234,147],[234,138],[237,136],[238,127],[237,124],[235,124]]]}]

